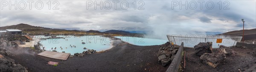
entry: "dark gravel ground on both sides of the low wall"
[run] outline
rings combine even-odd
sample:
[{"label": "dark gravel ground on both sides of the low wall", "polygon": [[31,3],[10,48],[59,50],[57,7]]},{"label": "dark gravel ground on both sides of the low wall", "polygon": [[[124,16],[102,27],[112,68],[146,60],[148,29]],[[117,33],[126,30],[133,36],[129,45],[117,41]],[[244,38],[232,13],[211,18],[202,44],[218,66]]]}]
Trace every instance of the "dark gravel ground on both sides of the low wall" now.
[{"label": "dark gravel ground on both sides of the low wall", "polygon": [[[16,64],[21,64],[29,72],[165,72],[169,67],[158,63],[157,52],[160,45],[137,46],[117,41],[114,47],[96,54],[84,57],[70,57],[66,61],[38,56],[30,48],[9,49],[10,58]],[[186,67],[184,72],[239,72],[256,63],[253,50],[250,48],[232,48],[238,56],[227,56],[223,64],[212,68],[201,63],[200,57],[195,56],[194,49],[186,51]],[[216,51],[214,51],[216,52]],[[58,66],[48,65],[48,61],[59,62]]]}]

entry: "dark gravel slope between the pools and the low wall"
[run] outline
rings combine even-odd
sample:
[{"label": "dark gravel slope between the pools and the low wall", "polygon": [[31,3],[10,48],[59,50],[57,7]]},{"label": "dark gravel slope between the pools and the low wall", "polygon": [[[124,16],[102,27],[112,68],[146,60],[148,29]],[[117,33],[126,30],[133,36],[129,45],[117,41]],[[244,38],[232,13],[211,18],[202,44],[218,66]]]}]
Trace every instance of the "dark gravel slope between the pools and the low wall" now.
[{"label": "dark gravel slope between the pools and the low wall", "polygon": [[[104,53],[70,57],[66,61],[38,56],[29,48],[10,50],[12,54],[9,57],[29,72],[165,72],[169,65],[163,67],[157,62],[159,47],[119,41]],[[48,61],[59,62],[59,65],[48,65]]]}]

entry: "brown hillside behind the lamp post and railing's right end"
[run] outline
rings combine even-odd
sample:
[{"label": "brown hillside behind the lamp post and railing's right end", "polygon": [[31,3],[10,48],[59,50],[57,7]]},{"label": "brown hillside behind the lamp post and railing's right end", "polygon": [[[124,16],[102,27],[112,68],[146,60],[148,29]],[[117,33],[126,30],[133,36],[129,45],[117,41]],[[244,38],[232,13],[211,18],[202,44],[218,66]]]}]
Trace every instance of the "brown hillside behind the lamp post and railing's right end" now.
[{"label": "brown hillside behind the lamp post and railing's right end", "polygon": [[[243,30],[235,30],[219,35],[243,36]],[[244,40],[256,40],[256,29],[244,29]]]}]

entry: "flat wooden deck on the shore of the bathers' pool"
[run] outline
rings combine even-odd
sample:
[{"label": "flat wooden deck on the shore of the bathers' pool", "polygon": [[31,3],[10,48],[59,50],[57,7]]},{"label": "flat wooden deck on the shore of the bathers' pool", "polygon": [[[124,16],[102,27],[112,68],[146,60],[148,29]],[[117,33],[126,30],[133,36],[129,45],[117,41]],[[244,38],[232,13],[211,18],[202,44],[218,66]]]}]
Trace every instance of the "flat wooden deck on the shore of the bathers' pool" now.
[{"label": "flat wooden deck on the shore of the bathers' pool", "polygon": [[38,53],[38,55],[53,58],[53,59],[67,60],[68,56],[70,56],[70,53],[60,53],[60,52],[54,52],[54,51],[43,51],[41,53]]}]

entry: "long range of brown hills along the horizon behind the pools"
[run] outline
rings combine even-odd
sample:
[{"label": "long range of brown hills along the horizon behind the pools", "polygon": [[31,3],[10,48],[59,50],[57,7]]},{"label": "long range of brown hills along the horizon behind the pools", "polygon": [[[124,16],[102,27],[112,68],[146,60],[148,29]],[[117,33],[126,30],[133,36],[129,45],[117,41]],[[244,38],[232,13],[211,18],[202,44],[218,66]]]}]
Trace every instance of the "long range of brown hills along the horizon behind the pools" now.
[{"label": "long range of brown hills along the horizon behind the pools", "polygon": [[28,33],[31,35],[44,35],[44,34],[53,34],[53,35],[112,35],[112,36],[140,36],[140,34],[130,33],[121,30],[108,30],[105,32],[99,32],[97,30],[66,30],[66,29],[52,29],[46,27],[37,27],[31,26],[29,24],[17,24],[11,26],[0,27],[0,29],[20,29],[23,33]]}]

